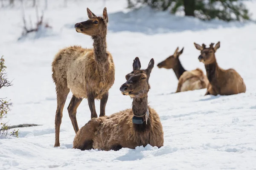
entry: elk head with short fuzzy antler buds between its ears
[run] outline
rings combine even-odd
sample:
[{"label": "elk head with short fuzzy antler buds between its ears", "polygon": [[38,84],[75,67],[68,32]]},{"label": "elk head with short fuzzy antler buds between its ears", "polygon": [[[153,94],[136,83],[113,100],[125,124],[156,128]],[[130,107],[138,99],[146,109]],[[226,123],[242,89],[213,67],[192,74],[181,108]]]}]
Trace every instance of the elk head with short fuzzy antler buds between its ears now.
[{"label": "elk head with short fuzzy antler buds between its ears", "polygon": [[205,65],[215,62],[215,52],[220,48],[220,44],[221,42],[218,42],[215,47],[213,47],[214,43],[211,43],[210,47],[206,48],[206,45],[202,44],[201,46],[194,42],[195,48],[201,51],[201,55],[198,57],[199,61],[203,62]]}]

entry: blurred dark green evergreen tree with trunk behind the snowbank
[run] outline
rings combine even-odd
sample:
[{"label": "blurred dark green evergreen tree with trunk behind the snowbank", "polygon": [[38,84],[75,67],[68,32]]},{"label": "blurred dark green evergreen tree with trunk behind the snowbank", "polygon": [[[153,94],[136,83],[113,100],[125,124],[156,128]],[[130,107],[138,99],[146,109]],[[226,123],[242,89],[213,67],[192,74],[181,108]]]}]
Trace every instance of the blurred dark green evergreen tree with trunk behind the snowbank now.
[{"label": "blurred dark green evergreen tree with trunk behind the snowbank", "polygon": [[224,21],[249,20],[248,10],[243,0],[128,0],[128,7],[136,4],[147,4],[161,11],[170,10],[175,14],[183,10],[186,16],[194,16],[201,20],[218,18]]}]

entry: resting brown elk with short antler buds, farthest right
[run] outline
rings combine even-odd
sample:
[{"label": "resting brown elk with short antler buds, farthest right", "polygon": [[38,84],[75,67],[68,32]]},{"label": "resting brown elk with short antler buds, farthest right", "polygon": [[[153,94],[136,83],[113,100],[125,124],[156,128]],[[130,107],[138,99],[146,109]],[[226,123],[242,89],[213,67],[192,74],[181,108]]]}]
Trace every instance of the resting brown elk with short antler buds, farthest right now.
[{"label": "resting brown elk with short antler buds, farthest right", "polygon": [[205,95],[231,95],[246,91],[244,80],[234,69],[224,70],[218,66],[215,52],[220,48],[220,42],[215,47],[213,47],[214,43],[211,43],[209,48],[206,48],[204,44],[202,46],[195,42],[194,44],[195,48],[201,51],[198,59],[204,63],[209,79],[209,85],[207,86]]}]

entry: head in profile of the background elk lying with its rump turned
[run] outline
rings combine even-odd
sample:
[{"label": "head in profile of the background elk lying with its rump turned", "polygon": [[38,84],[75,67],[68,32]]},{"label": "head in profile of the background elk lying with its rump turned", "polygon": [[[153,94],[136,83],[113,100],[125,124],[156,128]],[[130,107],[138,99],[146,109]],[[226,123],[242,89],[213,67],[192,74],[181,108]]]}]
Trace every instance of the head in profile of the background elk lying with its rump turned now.
[{"label": "head in profile of the background elk lying with its rump turned", "polygon": [[[169,56],[168,58],[166,58],[165,60],[163,60],[162,62],[157,64],[158,68],[166,68],[166,69],[171,69],[174,68],[175,65],[177,65],[178,61],[179,61],[179,56],[180,54],[183,53],[183,49],[182,48],[179,51],[179,48],[177,47],[177,49],[175,50],[174,54]],[[179,51],[179,52],[178,52]]]}]

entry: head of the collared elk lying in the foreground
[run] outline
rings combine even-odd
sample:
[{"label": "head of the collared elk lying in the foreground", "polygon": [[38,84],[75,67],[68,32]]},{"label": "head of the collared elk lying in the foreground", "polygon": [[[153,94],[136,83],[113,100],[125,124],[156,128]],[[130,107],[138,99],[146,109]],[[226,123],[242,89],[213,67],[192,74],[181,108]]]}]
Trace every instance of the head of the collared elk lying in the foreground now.
[{"label": "head of the collared elk lying in the foreground", "polygon": [[148,79],[152,68],[154,67],[154,59],[151,59],[148,68],[140,70],[140,59],[136,57],[133,62],[133,71],[125,76],[127,80],[121,85],[120,91],[123,95],[129,95],[131,98],[143,98],[148,94],[150,85]]}]

